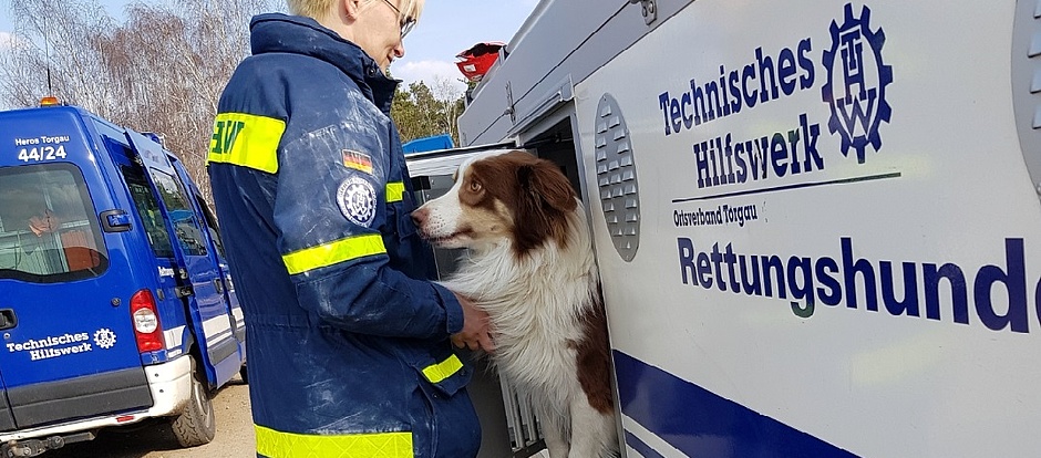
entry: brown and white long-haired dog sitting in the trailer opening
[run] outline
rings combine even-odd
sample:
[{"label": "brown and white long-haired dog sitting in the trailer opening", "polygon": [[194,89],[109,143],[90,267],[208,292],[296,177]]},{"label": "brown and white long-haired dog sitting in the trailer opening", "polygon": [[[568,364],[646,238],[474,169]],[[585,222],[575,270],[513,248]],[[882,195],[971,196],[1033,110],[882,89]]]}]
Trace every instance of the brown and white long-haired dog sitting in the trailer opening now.
[{"label": "brown and white long-haired dog sitting in the trailer opening", "polygon": [[493,361],[530,396],[549,456],[617,456],[599,275],[560,169],[519,150],[470,158],[412,217],[433,243],[468,249],[445,285],[488,313]]}]

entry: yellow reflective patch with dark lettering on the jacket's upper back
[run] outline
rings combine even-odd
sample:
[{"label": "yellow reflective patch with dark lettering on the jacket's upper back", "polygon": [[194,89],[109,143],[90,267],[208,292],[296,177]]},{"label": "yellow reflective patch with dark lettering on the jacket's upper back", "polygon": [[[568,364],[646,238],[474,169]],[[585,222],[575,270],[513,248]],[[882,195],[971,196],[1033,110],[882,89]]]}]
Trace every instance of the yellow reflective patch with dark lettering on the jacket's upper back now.
[{"label": "yellow reflective patch with dark lettering on the jacket's upper back", "polygon": [[268,174],[278,171],[278,143],[286,122],[246,113],[220,113],[214,119],[207,163],[226,163]]}]

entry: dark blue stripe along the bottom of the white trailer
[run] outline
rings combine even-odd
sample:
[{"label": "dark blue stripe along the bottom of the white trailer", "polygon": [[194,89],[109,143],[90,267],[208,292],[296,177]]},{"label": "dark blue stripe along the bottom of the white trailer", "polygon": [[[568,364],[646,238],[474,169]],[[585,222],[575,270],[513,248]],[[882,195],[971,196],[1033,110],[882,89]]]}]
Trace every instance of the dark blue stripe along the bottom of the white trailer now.
[{"label": "dark blue stripe along the bottom of the white trailer", "polygon": [[[622,352],[614,354],[622,412],[688,456],[856,456]],[[626,434],[630,446],[633,437]]]}]

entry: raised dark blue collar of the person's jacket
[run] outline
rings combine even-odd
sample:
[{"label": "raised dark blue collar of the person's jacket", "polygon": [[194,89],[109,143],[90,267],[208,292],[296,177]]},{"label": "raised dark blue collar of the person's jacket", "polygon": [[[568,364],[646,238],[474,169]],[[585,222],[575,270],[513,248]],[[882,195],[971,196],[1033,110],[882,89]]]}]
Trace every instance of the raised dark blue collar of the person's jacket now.
[{"label": "raised dark blue collar of the person's jacket", "polygon": [[384,114],[400,80],[391,80],[360,46],[318,23],[318,21],[279,13],[260,14],[249,23],[252,54],[287,52],[309,55],[336,65]]}]

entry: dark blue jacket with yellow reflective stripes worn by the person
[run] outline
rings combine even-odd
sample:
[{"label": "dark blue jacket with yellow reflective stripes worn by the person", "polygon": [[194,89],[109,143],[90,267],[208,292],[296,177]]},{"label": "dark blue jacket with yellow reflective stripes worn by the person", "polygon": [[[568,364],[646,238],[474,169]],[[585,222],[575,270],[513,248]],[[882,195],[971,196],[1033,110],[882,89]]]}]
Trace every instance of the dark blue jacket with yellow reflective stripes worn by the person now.
[{"label": "dark blue jacket with yellow reflective stripes worn by the person", "polygon": [[425,279],[388,114],[396,81],[318,22],[264,14],[208,168],[246,313],[257,454],[473,457],[455,296]]}]

